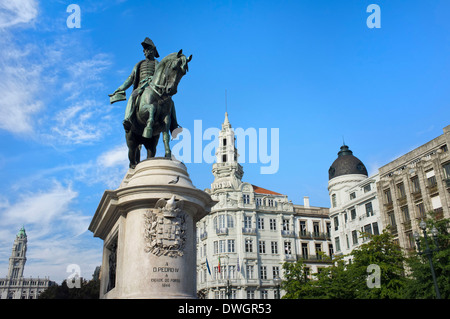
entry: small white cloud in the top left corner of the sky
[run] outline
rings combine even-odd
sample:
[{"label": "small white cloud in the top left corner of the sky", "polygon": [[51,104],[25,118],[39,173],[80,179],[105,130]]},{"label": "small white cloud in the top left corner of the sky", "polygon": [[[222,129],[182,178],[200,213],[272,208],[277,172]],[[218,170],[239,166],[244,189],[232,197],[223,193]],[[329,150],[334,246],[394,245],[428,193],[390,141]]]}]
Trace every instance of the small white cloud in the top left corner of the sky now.
[{"label": "small white cloud in the top left corner of the sky", "polygon": [[0,0],[0,29],[28,24],[37,15],[36,0]]}]

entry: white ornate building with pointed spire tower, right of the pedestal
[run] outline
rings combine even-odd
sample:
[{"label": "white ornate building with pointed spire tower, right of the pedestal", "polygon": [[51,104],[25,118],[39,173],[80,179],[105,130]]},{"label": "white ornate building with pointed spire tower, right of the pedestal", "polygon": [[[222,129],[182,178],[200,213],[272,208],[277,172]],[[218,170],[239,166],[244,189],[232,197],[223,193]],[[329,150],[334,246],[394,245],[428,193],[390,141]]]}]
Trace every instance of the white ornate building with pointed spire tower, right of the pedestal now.
[{"label": "white ornate building with pointed spire tower, right of the pedestal", "polygon": [[218,201],[197,223],[197,290],[203,298],[266,299],[283,292],[274,283],[282,264],[303,259],[310,272],[332,254],[328,209],[294,205],[282,195],[242,181],[235,135],[225,113],[214,182]]}]

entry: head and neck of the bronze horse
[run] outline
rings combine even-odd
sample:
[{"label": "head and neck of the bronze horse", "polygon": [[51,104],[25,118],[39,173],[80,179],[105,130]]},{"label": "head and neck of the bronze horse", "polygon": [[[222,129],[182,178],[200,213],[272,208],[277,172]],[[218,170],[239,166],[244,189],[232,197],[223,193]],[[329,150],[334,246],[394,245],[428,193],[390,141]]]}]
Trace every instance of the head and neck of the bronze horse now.
[{"label": "head and neck of the bronze horse", "polygon": [[192,60],[183,54],[183,50],[178,53],[171,53],[158,64],[155,72],[155,82],[163,89],[163,94],[174,95],[177,93],[178,83],[189,70],[188,63]]}]

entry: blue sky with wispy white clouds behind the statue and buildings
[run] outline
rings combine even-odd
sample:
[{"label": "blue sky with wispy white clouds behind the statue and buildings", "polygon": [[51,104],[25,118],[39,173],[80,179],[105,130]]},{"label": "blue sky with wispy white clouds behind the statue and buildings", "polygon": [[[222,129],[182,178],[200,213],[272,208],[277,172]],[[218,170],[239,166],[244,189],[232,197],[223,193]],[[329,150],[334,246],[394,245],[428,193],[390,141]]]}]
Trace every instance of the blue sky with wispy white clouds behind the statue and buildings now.
[{"label": "blue sky with wispy white clouds behind the statue and buildings", "polygon": [[[80,28],[66,24],[72,3]],[[366,24],[371,3],[379,29]],[[329,207],[343,138],[374,174],[450,124],[448,12],[446,0],[0,0],[0,276],[22,225],[26,276],[61,282],[78,264],[91,278],[100,265],[87,227],[128,166],[125,103],[108,94],[145,37],[161,58],[193,55],[174,96],[181,126],[220,128],[226,90],[234,128],[279,129],[278,171],[243,163],[244,181]],[[211,164],[186,165],[210,187]]]}]

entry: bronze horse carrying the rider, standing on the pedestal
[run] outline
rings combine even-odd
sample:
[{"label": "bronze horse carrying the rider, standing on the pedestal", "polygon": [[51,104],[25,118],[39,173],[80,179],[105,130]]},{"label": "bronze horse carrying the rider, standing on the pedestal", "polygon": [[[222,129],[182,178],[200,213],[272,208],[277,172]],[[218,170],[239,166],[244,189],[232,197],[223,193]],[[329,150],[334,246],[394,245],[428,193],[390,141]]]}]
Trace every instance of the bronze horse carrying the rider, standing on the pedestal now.
[{"label": "bronze horse carrying the rider, standing on the pedestal", "polygon": [[[153,79],[144,86],[136,100],[136,110],[130,118],[132,126],[126,133],[130,168],[140,162],[141,145],[147,149],[147,158],[156,154],[159,136],[163,134],[165,157],[171,158],[170,134],[179,127],[172,96],[177,93],[178,83],[188,71],[191,61],[180,50],[171,53],[158,63]],[[133,98],[133,97],[130,97]]]}]

